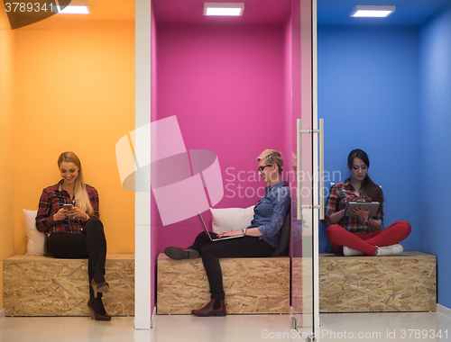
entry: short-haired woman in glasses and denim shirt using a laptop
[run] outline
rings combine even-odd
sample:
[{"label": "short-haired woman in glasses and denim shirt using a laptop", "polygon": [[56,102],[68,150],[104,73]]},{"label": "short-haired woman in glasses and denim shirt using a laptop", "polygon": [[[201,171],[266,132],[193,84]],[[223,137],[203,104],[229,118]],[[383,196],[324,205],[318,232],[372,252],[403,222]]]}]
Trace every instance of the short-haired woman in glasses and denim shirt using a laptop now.
[{"label": "short-haired woman in glasses and denim shirt using a laptop", "polygon": [[265,149],[257,157],[257,161],[259,175],[268,186],[264,196],[253,209],[251,225],[244,229],[224,231],[218,235],[210,233],[212,238],[244,235],[243,238],[211,242],[206,234],[201,232],[187,249],[179,247],[164,249],[166,256],[172,259],[191,259],[199,255],[202,257],[210,285],[211,301],[203,309],[191,311],[193,315],[226,316],[220,257],[269,257],[279,246],[280,229],[290,207],[290,188],[282,181],[281,175],[283,159],[280,152]]}]

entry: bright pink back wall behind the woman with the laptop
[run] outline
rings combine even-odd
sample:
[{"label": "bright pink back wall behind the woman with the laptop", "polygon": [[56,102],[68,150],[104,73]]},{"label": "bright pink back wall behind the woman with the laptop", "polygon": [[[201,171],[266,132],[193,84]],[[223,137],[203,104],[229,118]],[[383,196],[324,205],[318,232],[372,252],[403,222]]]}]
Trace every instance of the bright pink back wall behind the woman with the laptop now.
[{"label": "bright pink back wall behind the woman with the laptop", "polygon": [[[157,23],[152,121],[176,115],[188,149],[216,152],[225,186],[216,208],[247,207],[262,196],[255,157],[263,149],[281,150],[290,166],[286,34],[282,23]],[[163,227],[154,205],[152,210],[158,252],[187,247],[200,231],[197,218]],[[204,218],[211,223],[209,211]]]}]

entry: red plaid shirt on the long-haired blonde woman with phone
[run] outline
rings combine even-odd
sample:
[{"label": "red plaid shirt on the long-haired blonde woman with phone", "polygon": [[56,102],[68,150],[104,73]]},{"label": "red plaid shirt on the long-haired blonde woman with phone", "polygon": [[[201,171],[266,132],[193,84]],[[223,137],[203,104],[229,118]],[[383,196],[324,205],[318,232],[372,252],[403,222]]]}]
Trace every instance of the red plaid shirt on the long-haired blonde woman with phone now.
[{"label": "red plaid shirt on the long-haired blonde woman with phone", "polygon": [[[63,190],[61,184],[63,179],[55,185],[51,185],[42,190],[41,199],[39,200],[38,215],[36,216],[36,228],[39,231],[46,232],[47,236],[53,233],[69,232],[80,233],[87,221],[67,218],[64,220],[53,220],[63,204],[76,205],[75,198],[71,199],[69,193]],[[89,220],[98,219],[98,194],[97,190],[86,184],[87,197],[91,202],[94,215],[89,216]]]}]

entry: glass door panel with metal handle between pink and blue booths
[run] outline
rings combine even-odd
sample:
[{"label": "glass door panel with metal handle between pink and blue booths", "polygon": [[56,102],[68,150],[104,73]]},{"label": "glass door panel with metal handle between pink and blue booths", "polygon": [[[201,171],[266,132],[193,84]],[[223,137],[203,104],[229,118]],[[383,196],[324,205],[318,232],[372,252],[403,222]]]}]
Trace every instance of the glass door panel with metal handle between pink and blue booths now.
[{"label": "glass door panel with metal handle between pink and blue booths", "polygon": [[312,65],[315,8],[315,1],[292,1],[291,122],[296,190],[292,191],[291,203],[291,319],[293,328],[306,340],[314,340],[318,322],[318,124]]}]

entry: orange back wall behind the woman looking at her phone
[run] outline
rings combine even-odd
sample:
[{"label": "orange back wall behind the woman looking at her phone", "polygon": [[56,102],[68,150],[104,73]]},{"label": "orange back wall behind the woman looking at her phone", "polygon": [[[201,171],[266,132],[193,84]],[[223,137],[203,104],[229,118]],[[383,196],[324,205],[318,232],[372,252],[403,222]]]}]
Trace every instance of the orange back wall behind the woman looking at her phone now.
[{"label": "orange back wall behind the woman looking at her phone", "polygon": [[26,251],[22,209],[60,180],[67,150],[99,193],[107,253],[133,253],[134,193],[115,143],[134,130],[134,22],[53,16],[15,30],[14,65],[14,253]]}]

